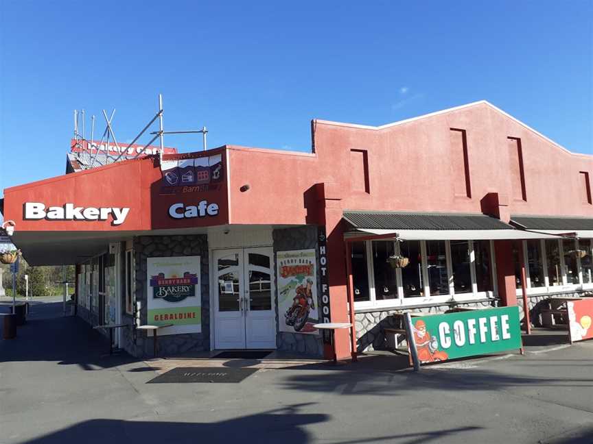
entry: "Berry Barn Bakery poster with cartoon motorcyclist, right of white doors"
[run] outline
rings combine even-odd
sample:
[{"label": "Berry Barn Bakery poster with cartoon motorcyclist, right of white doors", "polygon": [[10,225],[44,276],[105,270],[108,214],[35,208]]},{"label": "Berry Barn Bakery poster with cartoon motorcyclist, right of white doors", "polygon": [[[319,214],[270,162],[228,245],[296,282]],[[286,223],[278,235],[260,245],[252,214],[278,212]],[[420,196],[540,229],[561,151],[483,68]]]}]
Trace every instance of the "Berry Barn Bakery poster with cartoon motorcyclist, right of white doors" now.
[{"label": "Berry Barn Bakery poster with cartoon motorcyclist, right of white doors", "polygon": [[276,259],[280,331],[319,334],[315,250],[278,251]]}]

